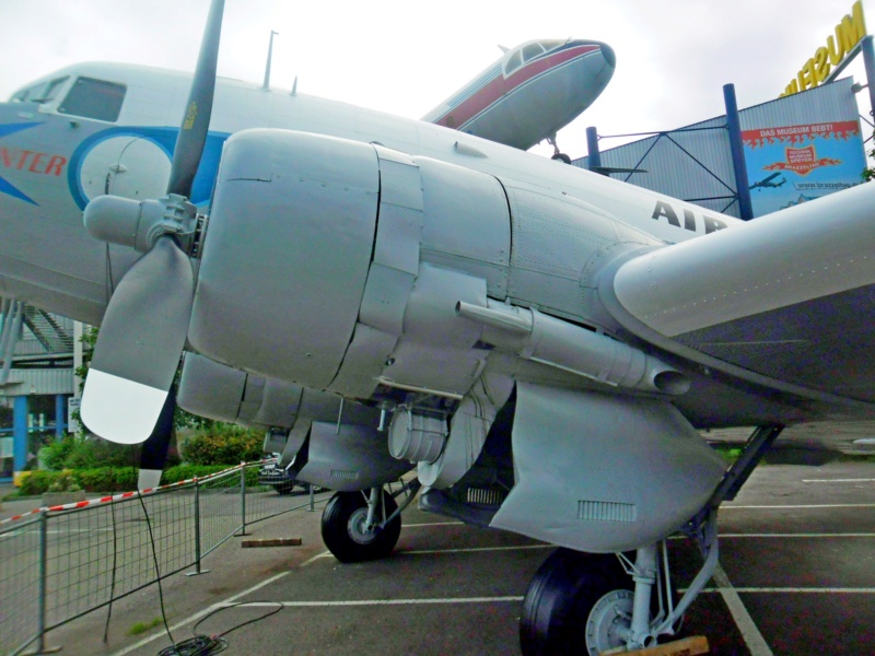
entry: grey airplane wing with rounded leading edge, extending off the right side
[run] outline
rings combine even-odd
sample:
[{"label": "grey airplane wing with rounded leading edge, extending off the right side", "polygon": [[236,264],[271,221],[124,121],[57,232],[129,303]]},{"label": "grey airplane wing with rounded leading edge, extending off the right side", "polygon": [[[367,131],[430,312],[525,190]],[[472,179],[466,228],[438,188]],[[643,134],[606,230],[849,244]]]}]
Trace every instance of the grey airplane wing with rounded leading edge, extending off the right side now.
[{"label": "grey airplane wing with rounded leading edge, extending off the right side", "polygon": [[640,255],[600,295],[638,338],[704,366],[872,402],[874,247],[864,184]]}]

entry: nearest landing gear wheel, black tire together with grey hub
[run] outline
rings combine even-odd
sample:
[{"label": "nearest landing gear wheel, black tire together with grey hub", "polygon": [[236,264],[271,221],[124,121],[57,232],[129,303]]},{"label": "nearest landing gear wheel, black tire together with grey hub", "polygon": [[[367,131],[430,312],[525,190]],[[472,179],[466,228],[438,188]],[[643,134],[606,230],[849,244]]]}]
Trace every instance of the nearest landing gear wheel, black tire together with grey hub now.
[{"label": "nearest landing gear wheel, black tire together with grey hub", "polygon": [[633,585],[612,553],[557,549],[535,574],[523,600],[523,654],[596,655],[626,646],[621,633],[632,617]]}]

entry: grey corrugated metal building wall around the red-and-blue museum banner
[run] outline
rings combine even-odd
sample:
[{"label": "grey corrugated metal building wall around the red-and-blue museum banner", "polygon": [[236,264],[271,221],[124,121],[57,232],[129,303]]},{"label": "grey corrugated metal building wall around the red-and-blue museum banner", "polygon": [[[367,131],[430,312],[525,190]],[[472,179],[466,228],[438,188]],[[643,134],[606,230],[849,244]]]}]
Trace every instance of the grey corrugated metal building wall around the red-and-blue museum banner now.
[{"label": "grey corrugated metal building wall around the red-and-blue museum banner", "polygon": [[[852,83],[851,78],[844,78],[742,109],[742,130],[856,117]],[[603,147],[606,143],[602,141]],[[588,157],[581,157],[572,164],[586,168],[587,162]],[[648,173],[612,174],[611,177],[733,216],[739,215],[725,116],[602,150],[602,166],[643,168]]]}]

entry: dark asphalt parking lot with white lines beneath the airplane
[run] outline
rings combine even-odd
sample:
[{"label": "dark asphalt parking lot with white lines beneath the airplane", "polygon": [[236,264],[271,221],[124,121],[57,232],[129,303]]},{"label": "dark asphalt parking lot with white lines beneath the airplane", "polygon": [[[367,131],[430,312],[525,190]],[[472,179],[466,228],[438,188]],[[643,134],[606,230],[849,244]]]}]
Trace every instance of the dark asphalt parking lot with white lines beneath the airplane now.
[{"label": "dark asphalt parking lot with white lines beneath the airplane", "polygon": [[[875,462],[814,460],[757,469],[721,509],[722,569],[684,626],[712,654],[875,653]],[[226,633],[226,654],[518,654],[522,597],[551,547],[415,506],[404,523],[392,558],[351,565],[325,551],[319,512],[252,526],[253,538],[302,546],[243,549],[233,538],[206,560],[208,574],[165,581],[173,639],[199,622],[199,633]],[[684,588],[700,558],[687,540],[669,551]],[[66,654],[155,655],[166,631],[131,629],[160,617],[151,586],[114,605],[106,644],[106,609],[47,642]]]}]

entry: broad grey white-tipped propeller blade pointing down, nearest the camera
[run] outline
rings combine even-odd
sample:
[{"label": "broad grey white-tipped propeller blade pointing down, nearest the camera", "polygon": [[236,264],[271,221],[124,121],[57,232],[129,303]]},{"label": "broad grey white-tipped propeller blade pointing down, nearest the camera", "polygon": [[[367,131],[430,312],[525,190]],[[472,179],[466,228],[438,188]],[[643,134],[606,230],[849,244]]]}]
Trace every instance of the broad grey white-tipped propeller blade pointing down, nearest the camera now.
[{"label": "broad grey white-tipped propeller blade pointing down, nearest the camera", "polygon": [[121,279],[82,395],[82,421],[93,433],[122,444],[152,433],[185,345],[194,290],[188,257],[170,236]]}]

